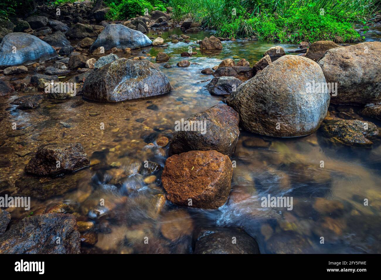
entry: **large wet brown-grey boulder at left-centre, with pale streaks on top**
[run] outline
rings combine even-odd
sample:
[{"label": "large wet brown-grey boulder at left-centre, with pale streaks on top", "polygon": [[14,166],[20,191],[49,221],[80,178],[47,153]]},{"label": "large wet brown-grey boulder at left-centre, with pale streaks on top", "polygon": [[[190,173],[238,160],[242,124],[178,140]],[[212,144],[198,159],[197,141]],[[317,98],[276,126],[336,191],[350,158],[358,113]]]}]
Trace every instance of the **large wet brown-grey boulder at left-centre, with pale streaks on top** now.
[{"label": "large wet brown-grey boulder at left-centre, with pale streaks on top", "polygon": [[121,58],[91,73],[83,83],[83,97],[118,102],[171,91],[168,78],[152,62]]}]

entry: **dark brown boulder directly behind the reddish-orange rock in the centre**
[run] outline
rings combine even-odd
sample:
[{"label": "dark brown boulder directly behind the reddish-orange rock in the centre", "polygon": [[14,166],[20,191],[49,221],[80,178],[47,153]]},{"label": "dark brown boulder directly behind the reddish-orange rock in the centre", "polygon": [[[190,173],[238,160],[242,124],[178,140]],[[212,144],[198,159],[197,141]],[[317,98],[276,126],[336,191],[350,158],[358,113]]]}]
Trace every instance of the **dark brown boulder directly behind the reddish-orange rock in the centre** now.
[{"label": "dark brown boulder directly behind the reddish-orange rock in the centre", "polygon": [[193,123],[192,130],[195,131],[182,130],[174,134],[169,155],[191,150],[216,150],[229,157],[234,153],[239,136],[239,116],[231,107],[217,104],[191,116],[187,122]]}]

